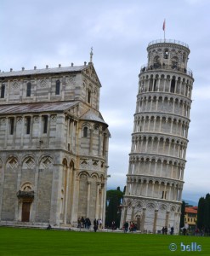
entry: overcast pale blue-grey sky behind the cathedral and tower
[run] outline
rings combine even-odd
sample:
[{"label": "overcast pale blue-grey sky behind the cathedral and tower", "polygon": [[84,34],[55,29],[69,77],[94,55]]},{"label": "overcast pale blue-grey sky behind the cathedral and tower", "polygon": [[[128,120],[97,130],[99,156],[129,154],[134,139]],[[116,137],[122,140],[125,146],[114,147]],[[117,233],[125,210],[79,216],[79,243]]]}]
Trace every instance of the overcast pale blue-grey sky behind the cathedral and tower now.
[{"label": "overcast pale blue-grey sky behind the cathedral and tower", "polygon": [[194,74],[183,198],[210,192],[210,1],[0,0],[0,69],[83,65],[94,48],[100,112],[111,131],[108,189],[128,173],[139,70],[147,45],[166,38],[189,44]]}]

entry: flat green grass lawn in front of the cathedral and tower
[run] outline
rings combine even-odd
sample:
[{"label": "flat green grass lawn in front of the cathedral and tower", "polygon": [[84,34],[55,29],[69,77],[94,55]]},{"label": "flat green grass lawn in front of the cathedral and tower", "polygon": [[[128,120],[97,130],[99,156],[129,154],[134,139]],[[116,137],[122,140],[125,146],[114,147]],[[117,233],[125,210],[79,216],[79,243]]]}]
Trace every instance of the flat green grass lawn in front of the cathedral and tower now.
[{"label": "flat green grass lawn in front of the cathedral and tower", "polygon": [[[181,251],[196,242],[199,251]],[[175,243],[177,250],[170,251]],[[183,248],[183,247],[182,247]],[[188,249],[189,249],[188,248]],[[0,255],[210,255],[210,237],[138,235],[0,227]]]}]

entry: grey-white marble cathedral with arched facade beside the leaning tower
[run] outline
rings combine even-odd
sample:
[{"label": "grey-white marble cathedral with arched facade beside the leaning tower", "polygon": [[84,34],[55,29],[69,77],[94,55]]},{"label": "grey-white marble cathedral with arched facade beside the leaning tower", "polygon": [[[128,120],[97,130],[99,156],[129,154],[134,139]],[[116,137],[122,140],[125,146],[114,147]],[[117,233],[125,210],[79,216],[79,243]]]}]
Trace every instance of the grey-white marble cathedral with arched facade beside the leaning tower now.
[{"label": "grey-white marble cathedral with arched facade beside the leaning tower", "polygon": [[105,221],[110,133],[82,66],[0,73],[0,223]]}]

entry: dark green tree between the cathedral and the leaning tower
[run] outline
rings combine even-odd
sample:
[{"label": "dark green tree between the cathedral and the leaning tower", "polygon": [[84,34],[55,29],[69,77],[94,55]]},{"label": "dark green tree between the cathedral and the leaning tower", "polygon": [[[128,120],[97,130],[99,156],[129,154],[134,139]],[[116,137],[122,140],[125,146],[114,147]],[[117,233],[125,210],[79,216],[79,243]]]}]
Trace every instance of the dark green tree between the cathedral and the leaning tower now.
[{"label": "dark green tree between the cathedral and the leaning tower", "polygon": [[106,191],[106,226],[111,227],[112,221],[115,221],[116,227],[120,226],[122,196],[123,192],[120,190],[120,187]]}]

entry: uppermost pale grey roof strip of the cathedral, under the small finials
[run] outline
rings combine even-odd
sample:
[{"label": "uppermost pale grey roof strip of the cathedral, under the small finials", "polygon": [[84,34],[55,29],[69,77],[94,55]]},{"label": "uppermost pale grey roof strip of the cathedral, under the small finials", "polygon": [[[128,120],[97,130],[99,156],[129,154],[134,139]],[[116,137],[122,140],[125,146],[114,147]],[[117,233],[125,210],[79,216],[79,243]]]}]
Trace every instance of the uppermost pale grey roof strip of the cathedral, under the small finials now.
[{"label": "uppermost pale grey roof strip of the cathedral, under the small finials", "polygon": [[44,73],[78,72],[78,71],[82,71],[82,69],[84,69],[86,67],[88,67],[88,65],[0,72],[0,78],[26,76],[26,75],[37,75],[37,74],[44,74]]}]

